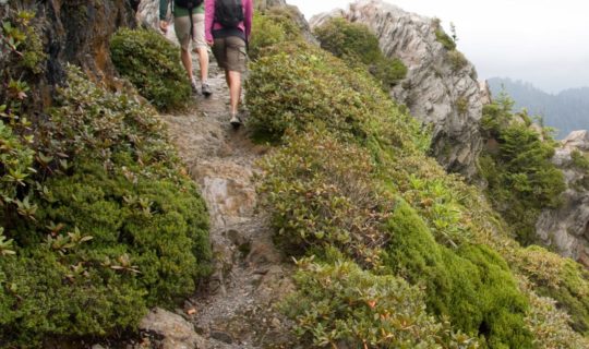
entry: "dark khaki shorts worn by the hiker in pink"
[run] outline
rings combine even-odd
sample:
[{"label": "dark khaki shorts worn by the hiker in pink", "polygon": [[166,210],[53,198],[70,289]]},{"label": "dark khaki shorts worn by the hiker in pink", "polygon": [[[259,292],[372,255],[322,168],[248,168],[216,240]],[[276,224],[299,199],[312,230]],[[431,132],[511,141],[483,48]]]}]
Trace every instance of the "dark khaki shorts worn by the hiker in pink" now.
[{"label": "dark khaki shorts worn by the hiker in pink", "polygon": [[213,55],[215,55],[219,68],[245,73],[248,52],[245,41],[242,38],[238,36],[216,38],[213,45]]}]

